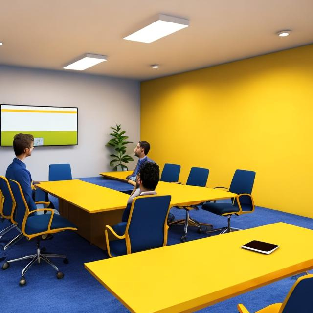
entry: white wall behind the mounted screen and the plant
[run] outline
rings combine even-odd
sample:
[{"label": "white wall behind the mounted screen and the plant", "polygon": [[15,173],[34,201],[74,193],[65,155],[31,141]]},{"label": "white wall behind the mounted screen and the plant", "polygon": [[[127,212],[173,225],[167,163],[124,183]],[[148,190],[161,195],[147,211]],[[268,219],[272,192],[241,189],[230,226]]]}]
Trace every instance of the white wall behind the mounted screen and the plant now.
[{"label": "white wall behind the mounted screen and the plant", "polygon": [[[112,151],[105,144],[115,124],[122,124],[130,141],[140,139],[138,81],[0,66],[0,103],[78,107],[78,145],[36,147],[25,159],[34,180],[47,180],[48,165],[52,163],[70,163],[73,178],[110,171]],[[131,156],[133,149],[130,144]],[[14,157],[12,147],[0,147],[0,175],[5,175]]]}]

